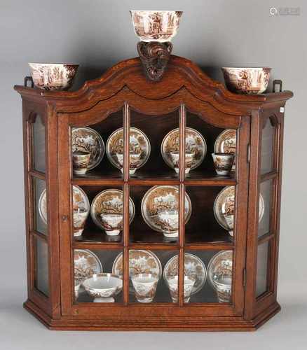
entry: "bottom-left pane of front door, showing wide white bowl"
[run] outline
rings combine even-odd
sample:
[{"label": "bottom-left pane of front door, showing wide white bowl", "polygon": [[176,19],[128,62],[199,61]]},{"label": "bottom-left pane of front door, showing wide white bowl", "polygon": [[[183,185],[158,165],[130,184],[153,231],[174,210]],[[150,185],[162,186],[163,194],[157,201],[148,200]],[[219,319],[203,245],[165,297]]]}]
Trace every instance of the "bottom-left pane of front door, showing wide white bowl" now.
[{"label": "bottom-left pane of front door, showing wide white bowl", "polygon": [[123,252],[74,249],[75,302],[123,301]]}]

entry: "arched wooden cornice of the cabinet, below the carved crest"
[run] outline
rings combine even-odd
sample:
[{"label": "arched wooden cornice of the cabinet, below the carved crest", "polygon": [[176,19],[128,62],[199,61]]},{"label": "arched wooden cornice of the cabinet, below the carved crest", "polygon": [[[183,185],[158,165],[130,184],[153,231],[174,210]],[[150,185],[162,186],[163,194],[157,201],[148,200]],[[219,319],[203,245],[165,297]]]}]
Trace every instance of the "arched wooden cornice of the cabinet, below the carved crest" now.
[{"label": "arched wooden cornice of the cabinet, below the carved crest", "polygon": [[[186,92],[189,92],[195,101],[238,118],[250,115],[252,109],[261,109],[264,104],[282,106],[292,97],[289,91],[261,95],[233,94],[223,84],[209,78],[189,59],[177,56],[171,56],[168,69],[159,82],[146,80],[140,59],[132,58],[112,66],[100,78],[86,81],[75,92],[50,92],[20,85],[15,85],[15,90],[24,99],[53,104],[60,113],[86,111],[123,92],[156,102],[178,94],[182,95],[182,102],[187,102],[183,95],[185,92],[187,97]],[[132,104],[129,99],[127,102]]]}]

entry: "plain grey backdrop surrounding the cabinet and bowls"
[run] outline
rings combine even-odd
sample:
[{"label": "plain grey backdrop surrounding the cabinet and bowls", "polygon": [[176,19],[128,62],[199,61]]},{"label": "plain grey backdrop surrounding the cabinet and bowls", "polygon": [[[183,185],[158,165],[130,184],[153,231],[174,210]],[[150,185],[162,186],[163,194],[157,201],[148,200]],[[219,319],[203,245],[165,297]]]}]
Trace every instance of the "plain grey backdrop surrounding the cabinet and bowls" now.
[{"label": "plain grey backdrop surrounding the cabinet and bowls", "polygon": [[[274,6],[299,16],[272,16]],[[192,59],[222,81],[219,66],[273,67],[285,89],[279,301],[282,312],[252,334],[49,332],[22,310],[26,298],[22,109],[14,84],[27,62],[79,62],[76,86],[136,56],[129,9],[184,10],[175,55]],[[1,349],[306,349],[306,1],[1,0]],[[305,81],[304,81],[305,80]],[[304,185],[305,183],[305,185]]]}]

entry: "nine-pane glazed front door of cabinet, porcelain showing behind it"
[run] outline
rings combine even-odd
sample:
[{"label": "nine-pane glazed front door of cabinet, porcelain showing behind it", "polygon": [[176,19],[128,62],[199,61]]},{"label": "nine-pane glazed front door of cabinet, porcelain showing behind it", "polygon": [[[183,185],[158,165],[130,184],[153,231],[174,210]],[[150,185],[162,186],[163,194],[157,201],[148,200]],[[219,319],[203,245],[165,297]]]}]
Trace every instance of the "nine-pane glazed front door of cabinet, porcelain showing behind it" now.
[{"label": "nine-pane glazed front door of cabinet, porcelain showing behind it", "polygon": [[[106,113],[107,103],[60,116],[64,265],[74,257],[62,269],[63,313],[197,304],[242,314],[248,119],[218,127],[180,103]],[[227,158],[224,174],[212,153]]]}]

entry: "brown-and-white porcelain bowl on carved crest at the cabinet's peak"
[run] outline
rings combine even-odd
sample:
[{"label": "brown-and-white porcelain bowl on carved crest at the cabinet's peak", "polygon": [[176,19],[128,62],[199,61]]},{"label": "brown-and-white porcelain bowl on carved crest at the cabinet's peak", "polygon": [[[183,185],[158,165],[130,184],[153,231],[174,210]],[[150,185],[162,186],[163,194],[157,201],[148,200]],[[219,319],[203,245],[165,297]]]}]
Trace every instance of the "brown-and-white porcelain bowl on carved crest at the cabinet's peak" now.
[{"label": "brown-and-white porcelain bowl on carved crest at the cabinet's peak", "polygon": [[135,34],[141,41],[171,41],[177,34],[182,11],[130,11]]}]

